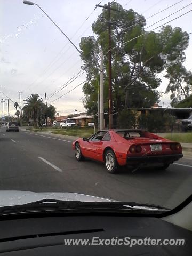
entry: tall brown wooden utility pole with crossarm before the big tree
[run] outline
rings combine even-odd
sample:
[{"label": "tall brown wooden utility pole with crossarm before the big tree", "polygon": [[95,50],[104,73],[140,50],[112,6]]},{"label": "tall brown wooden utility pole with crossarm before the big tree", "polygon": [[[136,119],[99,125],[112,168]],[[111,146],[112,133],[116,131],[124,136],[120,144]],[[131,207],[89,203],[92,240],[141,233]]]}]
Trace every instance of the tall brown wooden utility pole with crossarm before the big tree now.
[{"label": "tall brown wooden utility pole with crossarm before the big tree", "polygon": [[[110,2],[107,5],[97,4],[97,7],[108,9],[108,61],[109,61],[109,129],[113,128],[113,99],[112,99],[112,70],[111,70],[111,22],[110,11],[118,11],[110,7]],[[101,99],[100,99],[101,100]]]}]

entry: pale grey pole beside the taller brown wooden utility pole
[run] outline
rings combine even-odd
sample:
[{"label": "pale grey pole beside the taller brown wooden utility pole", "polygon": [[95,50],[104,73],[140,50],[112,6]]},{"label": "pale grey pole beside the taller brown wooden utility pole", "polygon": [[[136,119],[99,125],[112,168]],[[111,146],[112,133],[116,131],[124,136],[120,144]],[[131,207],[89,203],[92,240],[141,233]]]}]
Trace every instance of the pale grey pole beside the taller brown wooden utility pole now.
[{"label": "pale grey pole beside the taller brown wooden utility pole", "polygon": [[101,50],[101,63],[100,63],[100,130],[104,129],[104,108],[103,108],[103,52]]}]

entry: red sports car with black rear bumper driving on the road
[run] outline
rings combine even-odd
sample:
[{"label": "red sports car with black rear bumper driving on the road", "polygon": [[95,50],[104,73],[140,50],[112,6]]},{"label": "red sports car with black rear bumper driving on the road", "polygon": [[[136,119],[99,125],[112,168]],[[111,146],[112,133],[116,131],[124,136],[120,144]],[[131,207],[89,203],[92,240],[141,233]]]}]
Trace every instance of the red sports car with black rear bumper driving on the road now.
[{"label": "red sports car with black rear bumper driving on the road", "polygon": [[166,169],[183,156],[180,143],[143,130],[102,130],[89,139],[77,139],[73,149],[77,161],[87,157],[104,162],[110,173],[124,165]]}]

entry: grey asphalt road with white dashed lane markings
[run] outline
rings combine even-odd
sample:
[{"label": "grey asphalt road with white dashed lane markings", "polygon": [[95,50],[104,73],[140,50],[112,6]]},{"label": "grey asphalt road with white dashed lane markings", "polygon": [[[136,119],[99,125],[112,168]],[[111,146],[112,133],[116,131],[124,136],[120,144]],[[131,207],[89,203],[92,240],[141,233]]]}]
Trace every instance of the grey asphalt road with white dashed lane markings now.
[{"label": "grey asphalt road with white dashed lane markings", "polygon": [[165,171],[109,174],[102,163],[77,162],[70,139],[0,128],[0,190],[75,192],[175,207],[192,193],[192,159]]}]

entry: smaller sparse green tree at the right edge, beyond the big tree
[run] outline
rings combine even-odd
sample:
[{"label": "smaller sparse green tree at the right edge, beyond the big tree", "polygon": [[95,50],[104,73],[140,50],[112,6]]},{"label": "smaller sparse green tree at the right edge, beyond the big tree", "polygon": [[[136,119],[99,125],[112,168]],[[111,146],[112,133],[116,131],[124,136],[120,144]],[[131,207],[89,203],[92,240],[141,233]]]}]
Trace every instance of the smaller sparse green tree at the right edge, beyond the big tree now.
[{"label": "smaller sparse green tree at the right edge, beyond the big tree", "polygon": [[169,79],[165,93],[171,92],[171,105],[179,103],[182,98],[186,99],[192,91],[192,73],[181,62],[173,63],[167,68],[164,76]]}]

